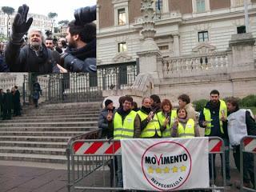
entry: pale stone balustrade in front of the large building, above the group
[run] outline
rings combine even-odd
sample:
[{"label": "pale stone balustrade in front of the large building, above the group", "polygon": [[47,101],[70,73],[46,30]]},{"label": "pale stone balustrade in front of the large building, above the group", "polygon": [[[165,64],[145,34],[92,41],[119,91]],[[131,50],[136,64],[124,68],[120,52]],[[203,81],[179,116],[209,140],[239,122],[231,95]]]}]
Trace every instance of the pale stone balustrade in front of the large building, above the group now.
[{"label": "pale stone balustrade in front of the large building, above the group", "polygon": [[218,52],[214,54],[199,54],[182,56],[176,58],[163,58],[163,74],[164,77],[174,77],[174,74],[207,74],[207,71],[223,71],[225,72],[230,65],[226,52]]}]

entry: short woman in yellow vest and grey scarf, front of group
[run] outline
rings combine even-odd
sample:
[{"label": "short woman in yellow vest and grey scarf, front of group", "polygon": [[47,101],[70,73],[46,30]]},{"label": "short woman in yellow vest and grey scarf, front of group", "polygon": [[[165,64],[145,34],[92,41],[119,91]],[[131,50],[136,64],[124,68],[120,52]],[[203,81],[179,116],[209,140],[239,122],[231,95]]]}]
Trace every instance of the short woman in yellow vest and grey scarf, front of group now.
[{"label": "short woman in yellow vest and grey scarf, front of group", "polygon": [[200,137],[197,126],[194,125],[194,119],[187,117],[185,108],[178,108],[178,118],[172,127],[171,136],[173,138],[194,138]]}]

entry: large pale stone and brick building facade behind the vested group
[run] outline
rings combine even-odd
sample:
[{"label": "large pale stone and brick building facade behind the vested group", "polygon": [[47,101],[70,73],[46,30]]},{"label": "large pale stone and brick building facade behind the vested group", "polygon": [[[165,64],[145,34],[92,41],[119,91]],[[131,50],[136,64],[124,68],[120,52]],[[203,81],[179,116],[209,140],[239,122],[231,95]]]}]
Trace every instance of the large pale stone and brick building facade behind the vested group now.
[{"label": "large pale stone and brick building facade behind the vested group", "polygon": [[[145,31],[150,31],[145,30],[148,16],[143,11],[148,11],[144,9],[146,6],[154,9],[150,18],[154,21],[151,32],[155,30],[154,42],[159,51],[154,69],[150,54],[143,59],[139,54],[146,40]],[[245,96],[250,87],[256,85],[255,77],[254,82],[247,85],[247,91],[239,93],[234,91],[237,87],[234,79],[229,77],[233,74],[230,68],[236,65],[231,59],[236,57],[234,52],[230,56],[232,39],[238,38],[236,34],[246,32],[250,33],[251,39],[256,38],[256,1],[247,0],[247,7],[248,31],[243,0],[98,0],[98,66],[138,63],[139,60],[138,73],[154,71],[156,76],[151,93],[162,97],[175,98],[184,92],[193,99],[199,98],[200,94],[206,97],[211,87],[223,90],[225,96]],[[252,45],[250,53],[254,59],[255,47]],[[250,72],[255,73],[255,70]],[[227,83],[226,86],[218,86],[222,82]],[[202,93],[194,93],[193,87]]]}]

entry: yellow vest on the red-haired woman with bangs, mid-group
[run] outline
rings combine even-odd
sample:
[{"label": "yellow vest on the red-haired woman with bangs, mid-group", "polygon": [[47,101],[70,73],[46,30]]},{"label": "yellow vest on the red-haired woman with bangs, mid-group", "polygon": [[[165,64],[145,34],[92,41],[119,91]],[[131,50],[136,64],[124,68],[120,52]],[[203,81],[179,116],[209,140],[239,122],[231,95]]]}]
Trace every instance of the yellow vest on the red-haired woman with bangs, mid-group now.
[{"label": "yellow vest on the red-haired woman with bangs, mid-group", "polygon": [[[165,120],[166,120],[166,116],[162,111],[158,112],[157,115],[158,115],[158,120],[159,120],[160,126],[162,126],[163,122],[165,122]],[[172,126],[174,126],[175,118],[177,118],[177,111],[176,110],[171,110],[170,123],[168,123],[166,125],[166,130],[164,130],[162,132],[162,137],[163,138],[170,138],[170,129],[171,129]]]}]

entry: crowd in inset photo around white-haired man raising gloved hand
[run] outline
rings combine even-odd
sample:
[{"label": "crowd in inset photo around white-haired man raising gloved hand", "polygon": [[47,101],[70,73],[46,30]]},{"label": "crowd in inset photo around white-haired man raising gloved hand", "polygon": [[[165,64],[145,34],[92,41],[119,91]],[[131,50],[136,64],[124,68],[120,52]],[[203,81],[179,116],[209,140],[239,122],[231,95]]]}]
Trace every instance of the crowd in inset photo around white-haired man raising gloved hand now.
[{"label": "crowd in inset photo around white-haired man raising gloved hand", "polygon": [[[92,72],[96,68],[96,6],[81,8],[79,19],[68,24],[66,38],[54,47],[41,30],[30,30],[33,18],[27,19],[29,7],[22,5],[14,17],[10,42],[0,59],[0,72]],[[90,18],[90,20],[88,20]],[[30,30],[30,31],[29,31]],[[28,32],[28,44],[24,35]],[[55,48],[55,50],[54,50]]]}]

